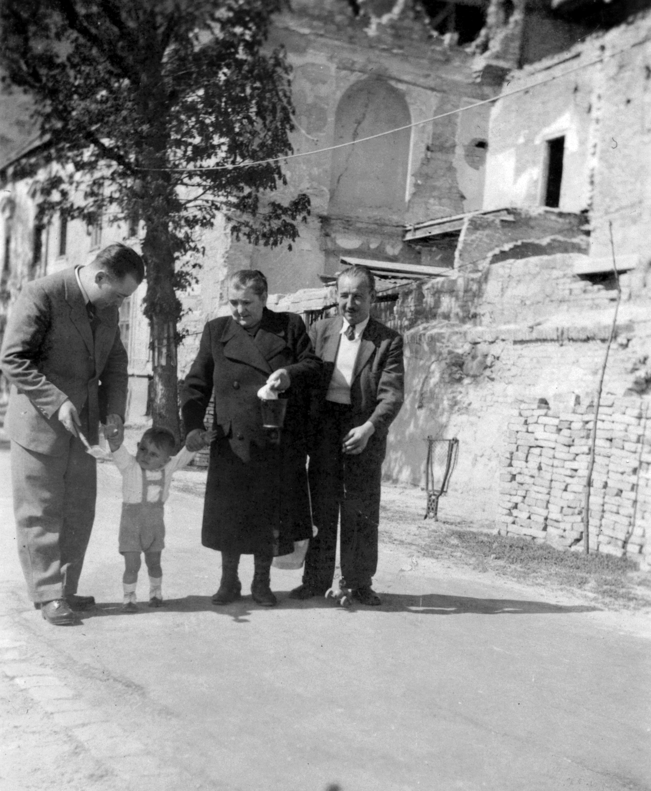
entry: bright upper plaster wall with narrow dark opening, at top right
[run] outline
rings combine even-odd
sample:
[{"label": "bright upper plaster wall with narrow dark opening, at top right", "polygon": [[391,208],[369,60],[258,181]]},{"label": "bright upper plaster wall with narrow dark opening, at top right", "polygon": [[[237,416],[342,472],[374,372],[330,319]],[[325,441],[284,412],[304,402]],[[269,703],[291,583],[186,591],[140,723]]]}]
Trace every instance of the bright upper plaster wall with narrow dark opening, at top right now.
[{"label": "bright upper plaster wall with narrow dark opening, at top right", "polygon": [[[499,100],[490,117],[485,209],[544,201],[546,142],[565,137],[560,209],[588,211],[590,253],[647,254],[651,221],[651,14],[509,75],[508,89],[554,77]],[[566,77],[567,70],[609,55]],[[506,87],[506,84],[505,84]]]}]

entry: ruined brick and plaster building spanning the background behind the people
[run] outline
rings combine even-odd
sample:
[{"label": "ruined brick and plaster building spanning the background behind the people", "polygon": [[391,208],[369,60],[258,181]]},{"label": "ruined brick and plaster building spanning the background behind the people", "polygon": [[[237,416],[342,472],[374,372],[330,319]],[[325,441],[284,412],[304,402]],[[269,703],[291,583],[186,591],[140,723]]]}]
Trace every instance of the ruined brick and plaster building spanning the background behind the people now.
[{"label": "ruined brick and plaster building spanning the background behind the people", "polygon": [[[310,196],[312,216],[292,252],[234,241],[223,224],[206,234],[202,282],[185,297],[180,375],[203,322],[225,312],[229,272],[263,270],[271,308],[309,321],[332,309],[327,283],[336,271],[368,263],[381,278],[377,316],[405,339],[407,399],[389,435],[387,478],[424,485],[426,437],[458,437],[449,493],[455,513],[577,546],[575,489],[585,480],[585,432],[618,293],[612,231],[622,301],[598,426],[599,441],[610,445],[601,453],[592,545],[645,558],[648,5],[295,0],[278,17],[271,44],[290,55],[293,146],[308,154],[287,162],[286,189]],[[427,120],[435,116],[443,117]],[[101,244],[137,244],[137,228],[53,225],[36,252],[30,185],[7,187],[0,210],[9,218],[2,225],[8,305],[21,279],[85,263],[100,231]],[[137,420],[148,375],[138,295],[122,318]],[[613,460],[612,474],[605,459]],[[634,516],[631,492],[639,494]]]}]

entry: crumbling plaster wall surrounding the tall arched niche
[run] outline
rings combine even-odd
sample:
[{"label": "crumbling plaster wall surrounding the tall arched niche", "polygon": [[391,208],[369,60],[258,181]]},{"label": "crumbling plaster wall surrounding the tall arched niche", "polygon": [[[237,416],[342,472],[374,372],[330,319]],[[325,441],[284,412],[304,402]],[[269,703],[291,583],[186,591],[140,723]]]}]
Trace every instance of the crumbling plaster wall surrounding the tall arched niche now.
[{"label": "crumbling plaster wall surrounding the tall arched niche", "polygon": [[[303,0],[276,18],[270,46],[285,46],[293,66],[296,153],[335,142],[339,101],[367,78],[384,81],[399,93],[413,122],[488,96],[489,89],[475,82],[473,56],[430,36],[426,17],[411,0],[363,3],[361,10],[355,17],[345,0]],[[369,27],[371,18],[375,21]],[[400,189],[407,201],[399,211],[380,206],[380,215],[391,216],[379,224],[373,200],[350,217],[329,217],[332,153],[288,161],[289,185],[274,197],[285,200],[305,191],[312,201],[311,218],[301,225],[291,252],[286,245],[252,248],[233,242],[226,255],[229,271],[259,268],[272,291],[290,293],[319,286],[319,275],[339,268],[339,256],[346,253],[419,263],[418,251],[403,244],[404,222],[456,214],[481,203],[481,156],[465,149],[471,139],[485,136],[487,114],[483,108],[469,122],[464,119],[464,125],[462,116],[453,115],[407,133],[407,177]]]}]

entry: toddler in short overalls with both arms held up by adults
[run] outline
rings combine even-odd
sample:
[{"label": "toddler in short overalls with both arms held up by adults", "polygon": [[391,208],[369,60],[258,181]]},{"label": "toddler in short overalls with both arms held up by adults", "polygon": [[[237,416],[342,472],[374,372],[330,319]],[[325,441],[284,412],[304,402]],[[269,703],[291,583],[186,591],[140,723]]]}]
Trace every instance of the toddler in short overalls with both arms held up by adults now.
[{"label": "toddler in short overalls with both arms held up by adults", "polygon": [[[209,444],[212,432],[203,434]],[[140,570],[140,555],[150,576],[150,607],[163,604],[161,551],[165,547],[163,510],[169,495],[169,485],[176,470],[185,467],[196,455],[181,448],[172,456],[176,442],[167,429],[153,426],[138,442],[135,456],[119,441],[108,437],[113,460],[122,474],[122,516],[119,523],[119,552],[124,557],[123,612],[138,612],[135,589]]]}]

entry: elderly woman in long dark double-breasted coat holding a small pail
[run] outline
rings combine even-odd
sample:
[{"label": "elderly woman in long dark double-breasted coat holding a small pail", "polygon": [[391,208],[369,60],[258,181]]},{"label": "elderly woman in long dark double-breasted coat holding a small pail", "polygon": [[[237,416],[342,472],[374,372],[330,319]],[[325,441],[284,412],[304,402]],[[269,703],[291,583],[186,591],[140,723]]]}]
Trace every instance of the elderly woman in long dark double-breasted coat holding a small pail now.
[{"label": "elderly woman in long dark double-breasted coat holding a small pail", "polygon": [[[182,414],[187,447],[197,449],[214,392],[210,464],[203,507],[202,544],[221,552],[221,585],[213,604],[240,598],[240,554],[252,554],[251,586],[258,604],[272,607],[274,555],[311,538],[305,428],[310,389],[320,360],[300,316],[267,309],[267,278],[242,270],[229,281],[232,316],[209,321],[199,354],[185,378]],[[288,399],[280,439],[263,428],[258,391],[269,384]]]}]

